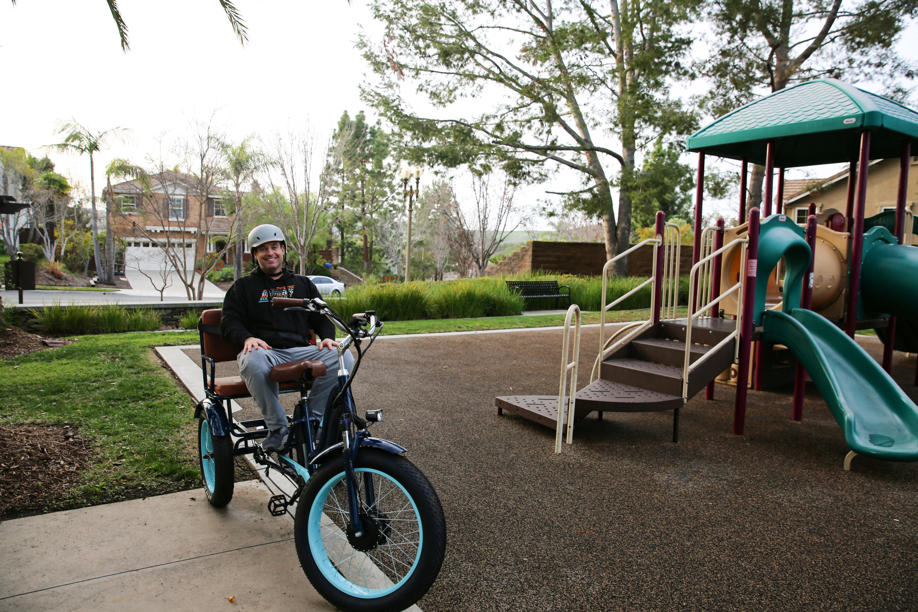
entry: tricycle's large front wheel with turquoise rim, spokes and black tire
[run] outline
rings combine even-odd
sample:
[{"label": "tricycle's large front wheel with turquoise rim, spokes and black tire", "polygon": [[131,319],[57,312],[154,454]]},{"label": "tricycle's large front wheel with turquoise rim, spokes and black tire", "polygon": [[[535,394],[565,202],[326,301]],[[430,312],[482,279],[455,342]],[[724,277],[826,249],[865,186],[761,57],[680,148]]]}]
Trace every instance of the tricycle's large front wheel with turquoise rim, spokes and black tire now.
[{"label": "tricycle's large front wheel with turquoise rim, spokes and black tire", "polygon": [[354,469],[363,531],[351,528],[344,460],[325,462],[297,504],[294,538],[309,582],[332,605],[400,612],[431,588],[446,551],[440,499],[404,457],[361,450]]}]

